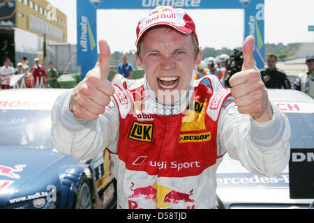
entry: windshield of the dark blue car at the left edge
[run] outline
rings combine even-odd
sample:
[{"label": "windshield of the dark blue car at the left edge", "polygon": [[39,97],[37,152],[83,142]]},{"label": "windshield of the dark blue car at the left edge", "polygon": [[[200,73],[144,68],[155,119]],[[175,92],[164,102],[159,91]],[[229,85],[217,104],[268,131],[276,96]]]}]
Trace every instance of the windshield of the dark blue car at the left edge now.
[{"label": "windshield of the dark blue car at the left edge", "polygon": [[50,113],[0,109],[0,147],[52,148]]}]

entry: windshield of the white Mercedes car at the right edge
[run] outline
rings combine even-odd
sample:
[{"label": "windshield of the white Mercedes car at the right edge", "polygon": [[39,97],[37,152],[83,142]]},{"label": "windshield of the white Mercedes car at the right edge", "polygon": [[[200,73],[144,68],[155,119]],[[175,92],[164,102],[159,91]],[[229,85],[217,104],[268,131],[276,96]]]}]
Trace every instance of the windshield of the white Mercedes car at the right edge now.
[{"label": "windshield of the white Mercedes car at the right edge", "polygon": [[286,113],[291,125],[291,148],[314,148],[314,114]]}]

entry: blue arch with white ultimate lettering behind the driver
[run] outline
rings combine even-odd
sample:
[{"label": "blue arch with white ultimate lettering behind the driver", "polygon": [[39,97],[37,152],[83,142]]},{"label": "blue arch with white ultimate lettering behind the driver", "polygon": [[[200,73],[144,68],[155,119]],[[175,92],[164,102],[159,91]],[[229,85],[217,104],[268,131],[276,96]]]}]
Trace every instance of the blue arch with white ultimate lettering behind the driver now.
[{"label": "blue arch with white ultimate lettering behind the driver", "polygon": [[149,10],[156,6],[186,9],[243,9],[244,39],[249,35],[255,37],[254,57],[257,68],[264,68],[264,0],[80,0],[77,1],[77,65],[82,66],[82,78],[97,61],[97,9]]}]

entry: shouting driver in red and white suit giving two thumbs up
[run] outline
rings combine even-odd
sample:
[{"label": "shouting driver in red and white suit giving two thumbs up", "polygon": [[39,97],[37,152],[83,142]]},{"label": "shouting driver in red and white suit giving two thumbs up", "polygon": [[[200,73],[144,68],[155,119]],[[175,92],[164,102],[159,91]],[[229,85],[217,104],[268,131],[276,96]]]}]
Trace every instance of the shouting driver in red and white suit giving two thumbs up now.
[{"label": "shouting driver in red and white suit giving two thumbs up", "polygon": [[253,37],[229,91],[214,75],[193,79],[202,50],[183,9],[150,10],[136,33],[144,78],[107,81],[110,47],[100,40],[95,68],[52,109],[60,153],[87,159],[111,151],[118,208],[216,208],[216,169],[226,152],[256,174],[285,168],[290,124],[269,102]]}]

